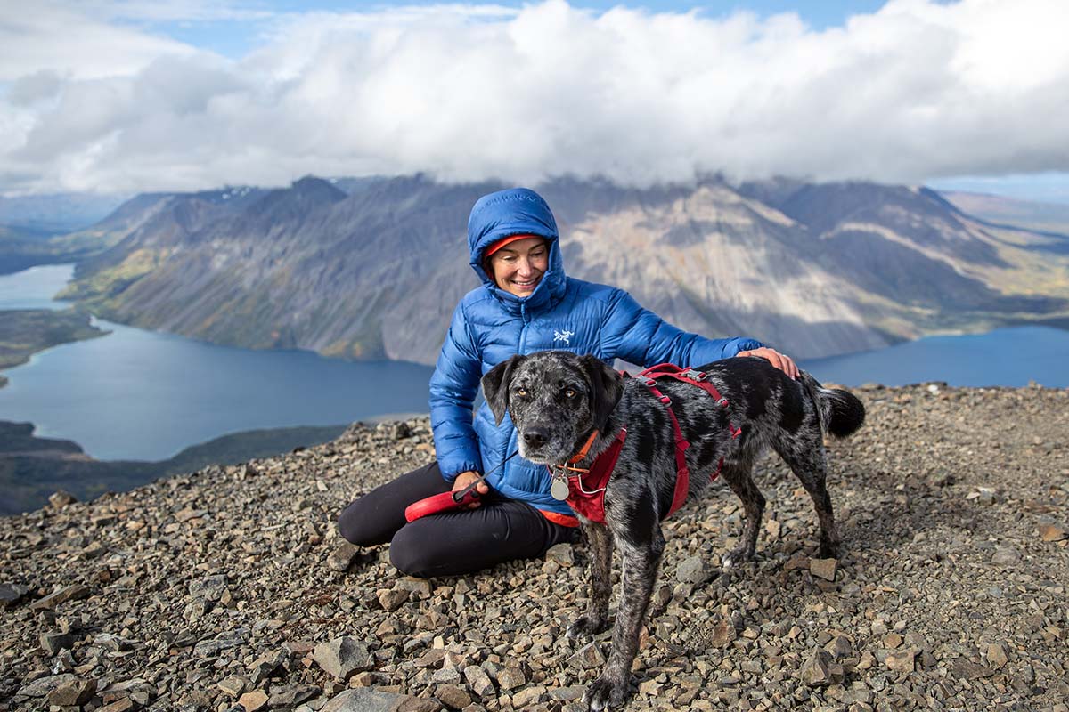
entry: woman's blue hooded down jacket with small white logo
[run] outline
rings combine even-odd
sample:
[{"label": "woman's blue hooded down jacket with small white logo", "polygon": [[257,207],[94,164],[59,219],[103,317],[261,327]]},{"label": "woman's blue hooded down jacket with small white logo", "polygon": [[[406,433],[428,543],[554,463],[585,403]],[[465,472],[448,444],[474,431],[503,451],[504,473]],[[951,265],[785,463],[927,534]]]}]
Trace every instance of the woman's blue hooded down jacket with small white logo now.
[{"label": "woman's blue hooded down jacket with small white logo", "polygon": [[[482,266],[483,251],[502,237],[531,234],[549,242],[548,269],[529,296],[520,298],[494,284]],[[622,289],[564,274],[557,223],[545,201],[515,188],[479,199],[468,219],[471,268],[482,286],[469,291],[453,312],[449,333],[431,377],[431,425],[438,465],[447,480],[467,470],[495,470],[487,484],[513,500],[570,515],[549,495],[545,465],[518,455],[516,431],[506,415],[500,426],[483,404],[472,423],[471,407],[483,374],[516,353],[563,349],[592,353],[611,363],[699,365],[761,346],[752,338],[709,339],[677,329],[642,308]]]}]

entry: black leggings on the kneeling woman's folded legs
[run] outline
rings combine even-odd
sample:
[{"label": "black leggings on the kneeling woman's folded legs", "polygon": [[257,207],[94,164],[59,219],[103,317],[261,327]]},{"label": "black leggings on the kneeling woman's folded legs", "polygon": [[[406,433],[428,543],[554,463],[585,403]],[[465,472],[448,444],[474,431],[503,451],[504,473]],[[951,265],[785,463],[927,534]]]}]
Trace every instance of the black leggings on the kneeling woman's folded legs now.
[{"label": "black leggings on the kneeling woman's folded legs", "polygon": [[410,576],[472,573],[501,561],[534,558],[562,541],[578,540],[577,527],[551,522],[539,510],[493,490],[477,509],[453,509],[405,522],[413,502],[450,491],[438,463],[377,487],[345,507],[338,531],[361,547],[390,542],[390,561]]}]

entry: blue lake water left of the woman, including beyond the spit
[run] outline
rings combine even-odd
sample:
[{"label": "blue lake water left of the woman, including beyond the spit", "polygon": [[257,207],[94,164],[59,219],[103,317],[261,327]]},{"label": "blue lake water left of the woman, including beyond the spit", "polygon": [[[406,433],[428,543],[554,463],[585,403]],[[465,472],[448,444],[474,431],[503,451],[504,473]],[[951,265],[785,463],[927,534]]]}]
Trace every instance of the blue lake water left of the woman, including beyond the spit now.
[{"label": "blue lake water left of the woman, including beyond the spit", "polygon": [[[0,308],[45,306],[69,275],[66,266],[35,268],[33,279],[2,276]],[[162,460],[239,430],[428,411],[428,366],[229,348],[95,323],[112,333],[42,351],[4,373],[0,420],[34,423],[37,436],[73,440],[97,459]]]}]

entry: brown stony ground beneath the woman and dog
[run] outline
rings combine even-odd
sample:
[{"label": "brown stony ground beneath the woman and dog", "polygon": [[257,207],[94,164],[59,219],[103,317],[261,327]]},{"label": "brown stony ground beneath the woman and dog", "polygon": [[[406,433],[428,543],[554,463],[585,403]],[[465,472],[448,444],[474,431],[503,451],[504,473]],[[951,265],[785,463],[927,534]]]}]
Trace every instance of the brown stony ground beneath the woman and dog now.
[{"label": "brown stony ground beneath the woman and dog", "polygon": [[[716,484],[666,524],[630,709],[1058,710],[1069,698],[1069,391],[858,391],[832,443],[845,553],[778,461],[758,560],[717,575]],[[424,463],[425,420],[354,426],[0,522],[0,709],[582,709],[582,547],[420,581],[342,547],[353,497]]]}]

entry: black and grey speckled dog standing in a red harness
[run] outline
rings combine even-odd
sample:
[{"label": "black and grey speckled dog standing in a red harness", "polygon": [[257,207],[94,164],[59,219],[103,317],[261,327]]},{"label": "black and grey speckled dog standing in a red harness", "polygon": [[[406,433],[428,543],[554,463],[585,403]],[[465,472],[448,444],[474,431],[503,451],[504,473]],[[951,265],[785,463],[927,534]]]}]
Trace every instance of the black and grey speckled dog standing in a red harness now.
[{"label": "black and grey speckled dog standing in a red harness", "polygon": [[[568,477],[569,504],[590,547],[592,588],[590,605],[569,627],[569,637],[591,636],[608,627],[614,545],[620,551],[623,574],[611,652],[584,696],[592,710],[623,703],[665,547],[661,522],[683,496],[699,495],[711,476],[724,478],[746,513],[739,545],[723,558],[726,570],[753,557],[757,545],[764,497],[750,472],[765,448],[784,458],[812,497],[819,555],[838,555],[839,535],[824,484],[823,434],[856,431],[865,420],[861,400],[847,391],[824,389],[804,371],[792,380],[757,357],[717,361],[684,376],[690,382],[625,378],[592,355],[541,351],[512,357],[482,379],[497,423],[508,415],[516,428],[520,455],[549,466],[555,480]],[[681,445],[677,433],[688,445]],[[677,452],[682,454],[677,457]],[[576,485],[587,491],[583,472],[606,454],[616,463],[598,495],[604,497],[600,522],[600,512],[576,508],[571,495]],[[684,469],[688,481],[680,492],[677,482]],[[563,499],[561,493],[557,489],[554,496]]]}]

